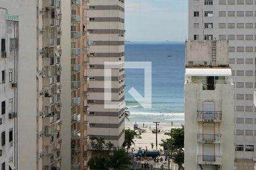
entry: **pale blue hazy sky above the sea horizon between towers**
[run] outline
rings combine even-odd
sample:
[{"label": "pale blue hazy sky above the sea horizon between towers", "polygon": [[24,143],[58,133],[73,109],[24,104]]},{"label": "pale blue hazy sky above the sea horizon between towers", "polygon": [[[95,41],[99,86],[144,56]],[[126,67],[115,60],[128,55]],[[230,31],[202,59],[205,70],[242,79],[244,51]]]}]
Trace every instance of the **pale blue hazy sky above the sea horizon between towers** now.
[{"label": "pale blue hazy sky above the sea horizon between towers", "polygon": [[126,0],[128,41],[184,41],[188,37],[188,0]]}]

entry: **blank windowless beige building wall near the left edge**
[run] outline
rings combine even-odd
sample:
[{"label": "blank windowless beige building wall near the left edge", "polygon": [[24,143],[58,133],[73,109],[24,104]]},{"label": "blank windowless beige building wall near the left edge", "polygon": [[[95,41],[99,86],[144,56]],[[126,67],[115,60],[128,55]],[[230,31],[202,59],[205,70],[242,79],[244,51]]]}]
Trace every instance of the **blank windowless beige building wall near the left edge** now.
[{"label": "blank windowless beige building wall near the left edge", "polygon": [[19,15],[18,169],[34,170],[36,169],[36,1],[1,1],[0,6],[8,8],[10,14]]}]

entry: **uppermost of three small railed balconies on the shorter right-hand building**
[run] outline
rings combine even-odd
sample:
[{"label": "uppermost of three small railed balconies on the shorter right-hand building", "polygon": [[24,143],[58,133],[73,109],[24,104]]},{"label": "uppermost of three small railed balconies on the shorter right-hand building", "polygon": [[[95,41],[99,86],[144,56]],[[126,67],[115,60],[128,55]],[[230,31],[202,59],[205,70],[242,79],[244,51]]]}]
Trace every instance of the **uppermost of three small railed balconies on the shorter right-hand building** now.
[{"label": "uppermost of three small railed balconies on the shorter right-hand building", "polygon": [[221,122],[221,112],[197,111],[197,121],[200,122]]}]

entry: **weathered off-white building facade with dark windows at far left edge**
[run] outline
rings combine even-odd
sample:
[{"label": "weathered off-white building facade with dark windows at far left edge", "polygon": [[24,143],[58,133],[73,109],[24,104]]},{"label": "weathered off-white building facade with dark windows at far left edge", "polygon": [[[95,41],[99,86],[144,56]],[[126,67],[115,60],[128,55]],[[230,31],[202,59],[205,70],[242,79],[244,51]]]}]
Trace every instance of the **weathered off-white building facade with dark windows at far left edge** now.
[{"label": "weathered off-white building facade with dark windows at far left edge", "polygon": [[18,16],[0,7],[0,168],[15,169],[18,161]]}]

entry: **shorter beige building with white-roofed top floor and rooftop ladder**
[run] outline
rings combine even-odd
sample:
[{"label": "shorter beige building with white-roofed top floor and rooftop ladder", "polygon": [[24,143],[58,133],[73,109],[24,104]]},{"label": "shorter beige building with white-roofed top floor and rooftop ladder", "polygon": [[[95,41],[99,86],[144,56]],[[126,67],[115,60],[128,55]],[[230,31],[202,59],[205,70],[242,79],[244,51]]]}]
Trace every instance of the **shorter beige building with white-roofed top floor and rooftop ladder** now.
[{"label": "shorter beige building with white-roofed top floor and rooftop ladder", "polygon": [[185,169],[234,169],[228,41],[186,41]]}]

